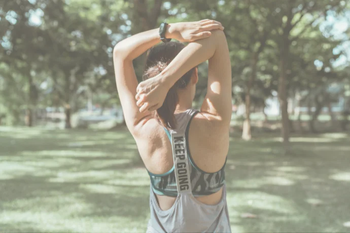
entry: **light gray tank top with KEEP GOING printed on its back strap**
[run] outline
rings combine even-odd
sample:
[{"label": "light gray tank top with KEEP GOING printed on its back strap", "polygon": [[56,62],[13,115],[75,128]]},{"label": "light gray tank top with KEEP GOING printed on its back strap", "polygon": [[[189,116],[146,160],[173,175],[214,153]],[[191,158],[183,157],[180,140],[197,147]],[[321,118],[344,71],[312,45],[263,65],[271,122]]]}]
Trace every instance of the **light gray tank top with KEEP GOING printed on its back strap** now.
[{"label": "light gray tank top with KEEP GOING printed on its back strap", "polygon": [[221,200],[216,205],[203,204],[192,194],[185,131],[194,112],[189,109],[175,115],[177,129],[171,130],[170,135],[178,196],[170,209],[161,210],[151,184],[151,218],[147,233],[231,232],[225,184]]}]

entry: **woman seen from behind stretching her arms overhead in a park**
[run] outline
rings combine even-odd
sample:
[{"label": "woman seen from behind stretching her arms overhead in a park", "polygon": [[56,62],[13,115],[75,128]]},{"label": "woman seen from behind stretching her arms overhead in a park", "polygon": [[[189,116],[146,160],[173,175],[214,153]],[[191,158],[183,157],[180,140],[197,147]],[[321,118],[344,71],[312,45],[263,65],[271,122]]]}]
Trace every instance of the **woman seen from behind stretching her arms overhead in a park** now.
[{"label": "woman seen from behind stretching her arms overhead in a park", "polygon": [[[224,28],[213,20],[162,26],[114,49],[126,125],[151,178],[147,232],[230,232],[224,167],[231,64]],[[164,43],[155,46],[160,38]],[[190,43],[166,43],[171,38]],[[145,81],[138,85],[132,60],[147,50]],[[206,60],[208,88],[196,111],[196,66]]]}]

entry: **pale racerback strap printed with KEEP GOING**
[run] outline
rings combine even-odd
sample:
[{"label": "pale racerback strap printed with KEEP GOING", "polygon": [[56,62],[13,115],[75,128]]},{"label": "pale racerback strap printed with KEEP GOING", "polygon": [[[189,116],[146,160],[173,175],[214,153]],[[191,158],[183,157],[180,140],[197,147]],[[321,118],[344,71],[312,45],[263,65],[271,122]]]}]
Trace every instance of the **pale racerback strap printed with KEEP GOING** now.
[{"label": "pale racerback strap printed with KEEP GOING", "polygon": [[185,133],[170,131],[178,193],[192,193]]}]

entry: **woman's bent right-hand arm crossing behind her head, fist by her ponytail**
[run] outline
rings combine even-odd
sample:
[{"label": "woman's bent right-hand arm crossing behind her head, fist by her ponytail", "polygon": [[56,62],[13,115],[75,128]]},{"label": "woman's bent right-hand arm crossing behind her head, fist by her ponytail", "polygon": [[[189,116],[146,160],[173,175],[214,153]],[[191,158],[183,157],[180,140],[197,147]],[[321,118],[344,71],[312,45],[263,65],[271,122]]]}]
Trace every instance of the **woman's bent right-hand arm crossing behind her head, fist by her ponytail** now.
[{"label": "woman's bent right-hand arm crossing behind her head, fist by her ponytail", "polygon": [[[188,44],[156,77],[137,87],[140,111],[155,110],[165,99],[167,91],[188,70],[209,60],[208,88],[201,112],[208,119],[216,119],[226,127],[231,120],[231,63],[225,34],[212,31],[210,37]],[[227,127],[228,128],[228,127]]]}]

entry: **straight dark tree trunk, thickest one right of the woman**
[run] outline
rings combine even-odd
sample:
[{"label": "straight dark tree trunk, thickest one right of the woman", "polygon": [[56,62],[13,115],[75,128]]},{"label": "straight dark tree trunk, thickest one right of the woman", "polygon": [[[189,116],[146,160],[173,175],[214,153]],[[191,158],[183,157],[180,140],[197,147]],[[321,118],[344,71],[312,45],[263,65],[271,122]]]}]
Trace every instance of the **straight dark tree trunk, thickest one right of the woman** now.
[{"label": "straight dark tree trunk, thickest one right of the woman", "polygon": [[285,44],[281,48],[281,57],[279,61],[279,79],[278,79],[278,100],[282,114],[282,139],[285,148],[285,153],[289,152],[289,117],[288,117],[288,103],[287,103],[287,64],[288,64],[288,50],[289,44]]}]

